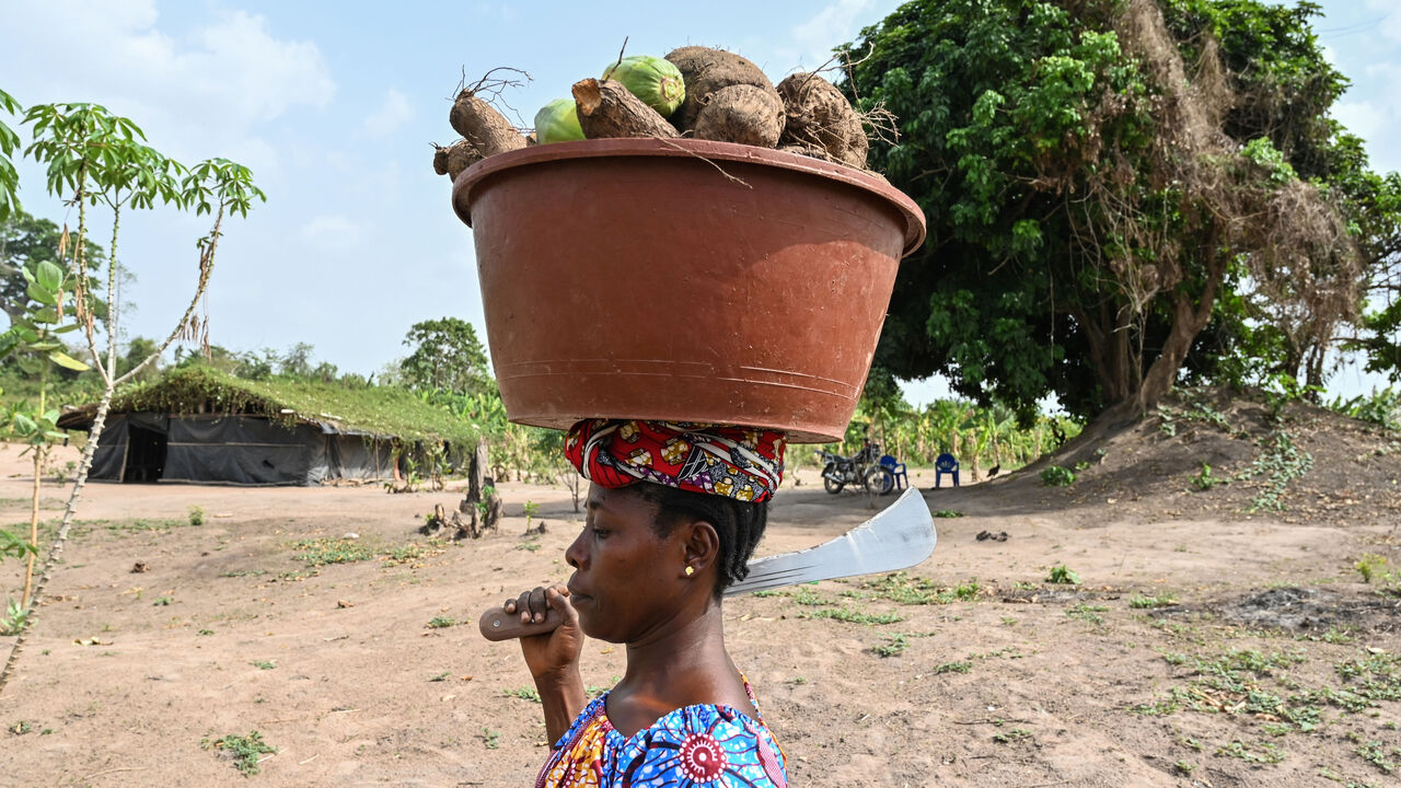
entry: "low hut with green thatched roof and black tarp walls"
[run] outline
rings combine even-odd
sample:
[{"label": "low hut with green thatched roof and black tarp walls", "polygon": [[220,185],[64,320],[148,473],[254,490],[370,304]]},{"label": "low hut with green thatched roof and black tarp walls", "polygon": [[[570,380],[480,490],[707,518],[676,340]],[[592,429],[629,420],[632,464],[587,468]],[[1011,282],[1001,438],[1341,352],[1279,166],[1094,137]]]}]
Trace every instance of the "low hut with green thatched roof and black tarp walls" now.
[{"label": "low hut with green thatched roof and black tarp walls", "polygon": [[[59,426],[92,430],[97,405]],[[396,478],[405,458],[461,456],[471,425],[412,393],[304,380],[242,380],[186,367],[119,391],[90,480],[314,485]]]}]

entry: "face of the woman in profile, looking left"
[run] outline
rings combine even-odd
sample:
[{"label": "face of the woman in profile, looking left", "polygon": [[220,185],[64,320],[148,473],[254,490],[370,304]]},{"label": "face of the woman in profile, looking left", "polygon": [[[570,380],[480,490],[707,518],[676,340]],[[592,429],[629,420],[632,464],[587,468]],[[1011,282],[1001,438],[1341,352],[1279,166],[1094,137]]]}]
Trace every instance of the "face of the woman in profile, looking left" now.
[{"label": "face of the woman in profile, looking left", "polygon": [[584,634],[608,642],[632,642],[675,614],[685,547],[679,531],[657,536],[657,505],[635,487],[591,485],[584,530],[565,551],[574,568],[570,602]]}]

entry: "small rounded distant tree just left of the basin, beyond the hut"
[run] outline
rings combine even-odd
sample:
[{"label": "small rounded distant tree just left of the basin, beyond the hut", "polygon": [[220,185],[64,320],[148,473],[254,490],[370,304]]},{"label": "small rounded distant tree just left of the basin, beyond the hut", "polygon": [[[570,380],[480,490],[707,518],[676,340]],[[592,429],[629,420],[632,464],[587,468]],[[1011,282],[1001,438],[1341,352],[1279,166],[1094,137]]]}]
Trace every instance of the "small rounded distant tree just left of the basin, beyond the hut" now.
[{"label": "small rounded distant tree just left of the basin, beyond the hut", "polygon": [[413,348],[399,362],[409,388],[467,395],[490,387],[486,349],[471,322],[455,317],[415,322],[403,344]]}]

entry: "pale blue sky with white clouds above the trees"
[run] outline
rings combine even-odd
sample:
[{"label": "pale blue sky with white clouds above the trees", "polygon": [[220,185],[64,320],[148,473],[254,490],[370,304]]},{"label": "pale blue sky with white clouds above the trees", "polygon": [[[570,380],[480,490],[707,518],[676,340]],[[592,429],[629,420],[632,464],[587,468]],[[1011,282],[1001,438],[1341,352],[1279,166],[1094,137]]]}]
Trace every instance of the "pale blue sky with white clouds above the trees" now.
[{"label": "pale blue sky with white clouds above the trees", "polygon": [[[1316,29],[1352,88],[1334,115],[1367,140],[1374,170],[1401,170],[1401,0],[1324,0]],[[308,342],[317,360],[375,373],[406,355],[423,320],[458,317],[485,339],[471,231],[432,168],[455,133],[447,111],[464,74],[511,66],[513,119],[569,95],[629,53],[703,43],[736,50],[776,83],[821,66],[894,0],[712,1],[689,7],[555,3],[6,0],[0,88],[22,105],[92,101],[133,119],[186,164],[226,157],[268,193],[226,223],[209,292],[210,341],[234,351]],[[7,121],[15,128],[14,119]],[[21,129],[28,142],[28,130]],[[17,161],[24,208],[57,223],[76,212]],[[164,337],[198,278],[207,217],[123,215],[122,262],[136,272],[125,334]],[[109,224],[95,227],[105,240]],[[1351,394],[1384,384],[1355,367]],[[906,386],[912,404],[941,395]]]}]

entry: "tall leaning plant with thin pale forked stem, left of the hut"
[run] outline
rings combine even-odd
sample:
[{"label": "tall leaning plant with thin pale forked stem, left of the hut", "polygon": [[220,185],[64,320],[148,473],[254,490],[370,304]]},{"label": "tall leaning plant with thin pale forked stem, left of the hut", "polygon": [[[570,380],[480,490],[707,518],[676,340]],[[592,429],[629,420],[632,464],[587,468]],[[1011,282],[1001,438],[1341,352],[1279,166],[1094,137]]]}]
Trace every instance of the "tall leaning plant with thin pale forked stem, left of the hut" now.
[{"label": "tall leaning plant with thin pale forked stem, left of the hut", "polygon": [[[3,98],[8,98],[4,95]],[[0,670],[0,691],[4,690],[14,666],[24,651],[28,632],[34,628],[39,600],[49,582],[53,566],[63,552],[69,527],[87,482],[92,456],[97,451],[112,404],[116,387],[134,377],[142,369],[174,342],[177,338],[199,341],[209,348],[207,317],[200,320],[196,308],[205,297],[209,276],[214,269],[214,254],[223,236],[224,219],[231,215],[247,216],[254,201],[265,201],[263,192],[254,185],[252,172],[226,158],[210,158],[193,167],[185,167],[146,144],[146,135],[132,121],[113,115],[97,104],[41,104],[31,107],[24,115],[29,126],[32,143],[24,154],[46,165],[48,191],[77,209],[78,226],[76,240],[64,248],[67,259],[60,261],[73,278],[73,317],[87,341],[87,355],[91,366],[102,379],[102,395],[92,418],[91,435],[83,449],[73,480],[63,520],[49,545],[43,569],[34,583],[24,625],[21,627],[10,658]],[[0,137],[4,135],[0,133]],[[125,210],[149,210],[157,205],[177,210],[193,210],[196,216],[209,215],[212,227],[196,241],[199,278],[184,313],[165,339],[143,360],[118,373],[116,345],[120,327],[120,294],[116,289],[119,266],[118,238],[120,219]],[[94,283],[87,273],[84,250],[87,248],[88,210],[111,212],[112,236],[106,254],[106,311],[101,324],[94,311]],[[99,348],[99,334],[105,335],[105,349]]]}]

